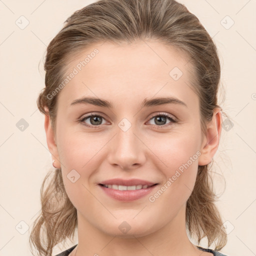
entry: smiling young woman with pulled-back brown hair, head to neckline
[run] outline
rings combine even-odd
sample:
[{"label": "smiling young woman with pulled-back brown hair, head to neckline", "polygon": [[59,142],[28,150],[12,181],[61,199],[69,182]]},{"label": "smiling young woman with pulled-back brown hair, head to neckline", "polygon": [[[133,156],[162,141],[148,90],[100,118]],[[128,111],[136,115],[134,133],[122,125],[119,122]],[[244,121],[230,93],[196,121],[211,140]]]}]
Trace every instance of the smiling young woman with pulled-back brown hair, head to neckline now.
[{"label": "smiling young woman with pulled-back brown hair, head to neckline", "polygon": [[55,170],[30,234],[39,255],[76,228],[59,256],[223,255],[208,172],[220,64],[197,17],[174,0],[97,1],[66,20],[44,68],[37,104]]}]

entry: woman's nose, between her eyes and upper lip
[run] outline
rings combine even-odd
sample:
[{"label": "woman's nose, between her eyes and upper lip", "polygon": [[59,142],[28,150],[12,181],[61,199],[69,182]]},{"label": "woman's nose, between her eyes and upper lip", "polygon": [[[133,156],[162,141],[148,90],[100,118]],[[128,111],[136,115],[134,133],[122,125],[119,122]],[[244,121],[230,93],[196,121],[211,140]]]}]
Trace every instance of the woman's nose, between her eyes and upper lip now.
[{"label": "woman's nose, between her eyes and upper lip", "polygon": [[141,166],[146,160],[145,145],[133,125],[126,131],[117,126],[116,132],[109,145],[108,162],[125,170]]}]

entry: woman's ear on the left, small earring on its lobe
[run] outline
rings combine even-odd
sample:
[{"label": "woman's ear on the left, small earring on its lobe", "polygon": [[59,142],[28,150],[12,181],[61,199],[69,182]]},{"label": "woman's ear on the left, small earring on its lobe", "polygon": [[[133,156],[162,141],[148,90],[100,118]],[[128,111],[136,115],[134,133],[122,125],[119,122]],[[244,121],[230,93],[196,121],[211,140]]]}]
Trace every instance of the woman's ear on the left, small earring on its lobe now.
[{"label": "woman's ear on the left, small earring on its lobe", "polygon": [[45,129],[45,133],[46,133],[47,145],[48,145],[49,151],[51,153],[52,160],[55,160],[54,161],[54,166],[56,168],[60,168],[57,145],[55,143],[54,132],[53,132],[53,129],[51,127],[51,123],[50,123],[50,120],[49,120],[49,115],[45,114],[44,116],[45,116],[44,129]]}]

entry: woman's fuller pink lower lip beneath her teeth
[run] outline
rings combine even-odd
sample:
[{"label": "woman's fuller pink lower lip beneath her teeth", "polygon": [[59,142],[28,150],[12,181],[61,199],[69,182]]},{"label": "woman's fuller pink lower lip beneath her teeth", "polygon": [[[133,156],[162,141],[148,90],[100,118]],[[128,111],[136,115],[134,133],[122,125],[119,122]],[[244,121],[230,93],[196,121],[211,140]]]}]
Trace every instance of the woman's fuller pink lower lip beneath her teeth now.
[{"label": "woman's fuller pink lower lip beneath her teeth", "polygon": [[119,201],[133,201],[137,200],[147,194],[149,194],[157,185],[153,185],[147,188],[141,188],[137,190],[118,190],[108,188],[102,185],[99,185],[103,191],[110,197],[119,200]]}]

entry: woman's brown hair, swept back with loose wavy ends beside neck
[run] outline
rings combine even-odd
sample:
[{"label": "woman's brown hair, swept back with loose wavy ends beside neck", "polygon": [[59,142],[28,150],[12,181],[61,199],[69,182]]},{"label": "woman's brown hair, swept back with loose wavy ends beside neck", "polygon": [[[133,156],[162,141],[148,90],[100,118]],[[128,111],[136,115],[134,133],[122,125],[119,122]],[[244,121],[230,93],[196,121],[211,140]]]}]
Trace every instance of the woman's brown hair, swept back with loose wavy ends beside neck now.
[{"label": "woman's brown hair, swept back with loose wavy ends beside neck", "polygon": [[[191,83],[199,97],[201,128],[205,132],[214,107],[219,107],[219,58],[212,38],[198,18],[175,0],[99,0],[66,19],[63,28],[47,46],[45,87],[37,99],[40,112],[49,115],[54,132],[58,94],[47,95],[63,80],[71,54],[94,42],[132,42],[135,39],[159,40],[188,54],[195,74]],[[65,192],[61,169],[54,171],[53,177],[49,178],[48,172],[43,180],[41,213],[29,237],[30,246],[33,244],[39,255],[45,256],[51,255],[59,242],[73,238],[77,227],[76,209]],[[48,179],[50,182],[45,188]],[[216,197],[208,164],[198,166],[195,185],[186,202],[186,226],[198,244],[206,237],[208,247],[215,242],[214,249],[219,250],[226,244],[227,237],[214,204]]]}]

